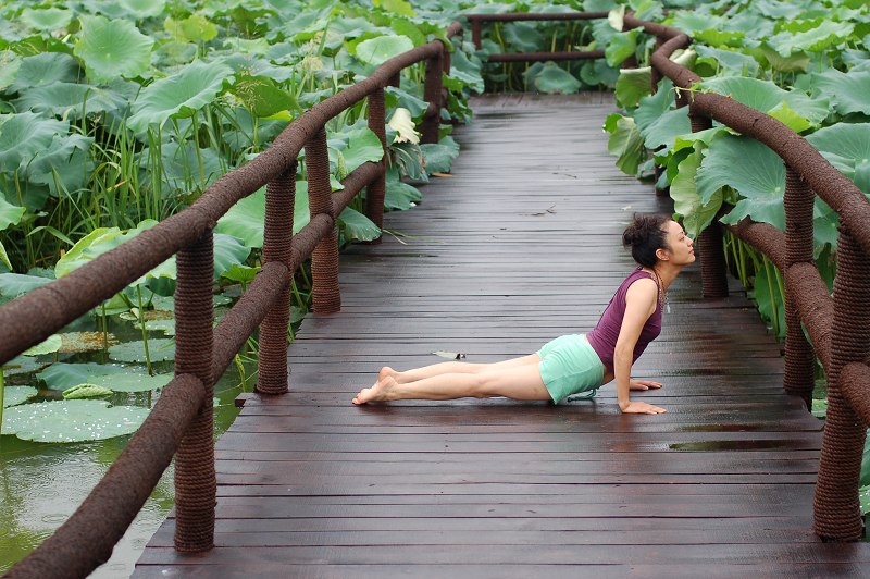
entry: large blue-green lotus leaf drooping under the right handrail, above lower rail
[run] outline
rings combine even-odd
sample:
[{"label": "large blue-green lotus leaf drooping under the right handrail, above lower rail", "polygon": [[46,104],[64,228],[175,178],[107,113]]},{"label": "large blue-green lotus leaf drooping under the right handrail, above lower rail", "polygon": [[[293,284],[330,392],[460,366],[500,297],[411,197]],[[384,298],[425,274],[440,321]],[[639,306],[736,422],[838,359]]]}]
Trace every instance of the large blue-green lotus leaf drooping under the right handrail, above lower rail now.
[{"label": "large blue-green lotus leaf drooping under the right handrail, above lower rail", "polygon": [[[735,167],[741,170],[734,171]],[[705,204],[724,185],[741,194],[743,199],[722,219],[723,223],[735,224],[749,217],[785,230],[785,167],[775,152],[757,140],[728,134],[713,139],[698,169],[696,184]]]}]

